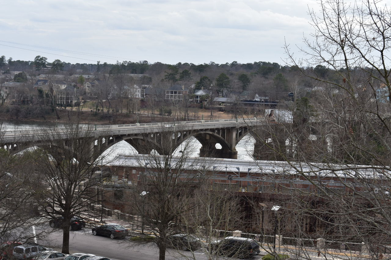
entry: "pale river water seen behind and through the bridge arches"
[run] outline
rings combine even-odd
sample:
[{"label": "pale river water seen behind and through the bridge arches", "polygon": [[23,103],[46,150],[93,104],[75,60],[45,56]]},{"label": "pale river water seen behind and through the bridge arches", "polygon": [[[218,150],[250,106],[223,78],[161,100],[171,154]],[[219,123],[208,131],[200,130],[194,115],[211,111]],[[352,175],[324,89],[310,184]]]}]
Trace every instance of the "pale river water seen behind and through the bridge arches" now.
[{"label": "pale river water seen behind and through the bridge arches", "polygon": [[[61,124],[58,124],[61,125]],[[5,130],[23,130],[23,129],[31,129],[31,128],[39,128],[43,126],[53,126],[53,123],[41,123],[41,122],[31,122],[31,121],[5,121],[2,125],[2,128]],[[197,141],[194,137],[190,137],[189,143],[191,146],[192,153],[190,153],[190,157],[199,157],[199,148],[201,148],[200,142]],[[252,160],[251,155],[254,151],[254,142],[255,139],[251,135],[246,135],[240,140],[240,142],[236,146],[236,150],[238,151],[238,160]],[[178,153],[181,147],[175,151]],[[216,145],[216,148],[221,148],[220,144]],[[117,144],[111,146],[109,151],[107,151],[110,155],[133,155],[137,154],[137,151],[133,146],[128,144],[125,141],[118,142]],[[110,156],[111,157],[111,156]]]}]

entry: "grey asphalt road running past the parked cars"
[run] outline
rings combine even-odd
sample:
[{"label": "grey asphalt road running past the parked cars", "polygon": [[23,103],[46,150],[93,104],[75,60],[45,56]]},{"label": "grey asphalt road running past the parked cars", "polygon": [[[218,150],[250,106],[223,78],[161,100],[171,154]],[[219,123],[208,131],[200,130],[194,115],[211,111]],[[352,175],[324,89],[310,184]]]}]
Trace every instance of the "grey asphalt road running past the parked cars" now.
[{"label": "grey asphalt road running past the parked cars", "polygon": [[[49,228],[49,227],[48,227]],[[45,240],[38,241],[39,244],[61,251],[62,232],[56,230],[50,233]],[[137,244],[126,240],[112,240],[108,237],[94,236],[91,229],[70,232],[70,253],[90,253],[105,256],[113,260],[158,260],[158,248],[154,243]],[[251,260],[260,260],[261,256],[254,256]],[[206,260],[203,250],[194,252],[177,251],[167,249],[167,260],[196,259]],[[218,259],[236,259],[219,257]]]}]

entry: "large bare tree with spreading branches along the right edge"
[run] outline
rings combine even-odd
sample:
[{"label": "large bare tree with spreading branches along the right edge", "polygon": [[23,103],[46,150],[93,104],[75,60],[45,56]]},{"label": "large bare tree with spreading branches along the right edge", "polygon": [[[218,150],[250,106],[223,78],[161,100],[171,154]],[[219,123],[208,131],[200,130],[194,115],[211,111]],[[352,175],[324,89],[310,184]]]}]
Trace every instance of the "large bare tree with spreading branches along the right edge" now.
[{"label": "large bare tree with spreading branches along the right edge", "polygon": [[[310,10],[315,32],[302,49],[309,58],[295,59],[286,46],[290,62],[316,88],[308,98],[296,98],[292,122],[275,120],[258,130],[255,153],[287,162],[282,172],[290,184],[275,185],[291,197],[274,202],[283,208],[282,218],[295,220],[291,235],[325,239],[318,248],[326,257],[325,249],[335,244],[352,249],[364,243],[362,254],[379,258],[391,242],[391,10],[369,0],[327,0],[320,9]],[[334,77],[302,67],[308,64],[325,65]]]}]

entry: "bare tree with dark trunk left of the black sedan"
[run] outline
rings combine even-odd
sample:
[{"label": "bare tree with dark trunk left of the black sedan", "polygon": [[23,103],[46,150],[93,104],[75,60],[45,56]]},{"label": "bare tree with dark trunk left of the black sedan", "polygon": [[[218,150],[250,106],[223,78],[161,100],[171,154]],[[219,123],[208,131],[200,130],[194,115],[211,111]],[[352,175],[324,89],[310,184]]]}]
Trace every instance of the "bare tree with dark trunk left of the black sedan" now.
[{"label": "bare tree with dark trunk left of the black sedan", "polygon": [[[93,217],[89,207],[97,201],[95,186],[102,181],[95,172],[108,163],[101,155],[99,142],[93,135],[93,126],[71,122],[61,128],[40,129],[41,152],[36,160],[48,192],[43,196],[43,211],[48,217],[63,217],[62,252],[69,253],[70,220],[75,215]],[[105,157],[105,158],[103,158]]]}]

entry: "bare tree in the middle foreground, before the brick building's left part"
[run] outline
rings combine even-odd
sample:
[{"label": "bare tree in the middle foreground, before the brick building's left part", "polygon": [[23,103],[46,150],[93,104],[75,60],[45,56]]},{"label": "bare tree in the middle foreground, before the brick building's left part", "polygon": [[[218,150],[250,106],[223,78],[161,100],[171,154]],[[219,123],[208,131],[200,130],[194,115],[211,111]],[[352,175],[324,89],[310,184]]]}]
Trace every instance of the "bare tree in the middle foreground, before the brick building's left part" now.
[{"label": "bare tree in the middle foreground, before the brick building's left part", "polygon": [[[163,126],[154,134],[155,141],[144,141],[145,155],[136,157],[140,169],[137,185],[127,190],[126,206],[133,215],[140,216],[133,228],[133,236],[153,237],[159,248],[159,259],[165,259],[168,237],[177,230],[181,216],[190,213],[195,203],[193,196],[205,182],[205,165],[189,159],[193,147],[185,132],[173,124]],[[176,150],[176,152],[174,152]]]}]

